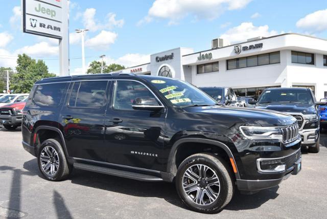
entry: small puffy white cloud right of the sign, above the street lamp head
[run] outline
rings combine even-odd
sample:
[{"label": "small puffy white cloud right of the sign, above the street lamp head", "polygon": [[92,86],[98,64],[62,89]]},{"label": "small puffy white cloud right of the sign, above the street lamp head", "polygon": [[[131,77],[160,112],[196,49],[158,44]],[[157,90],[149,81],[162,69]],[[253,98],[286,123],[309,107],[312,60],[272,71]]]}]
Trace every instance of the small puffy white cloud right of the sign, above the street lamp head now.
[{"label": "small puffy white cloud right of the sign, above the street lamp head", "polygon": [[[78,19],[80,16],[80,14],[77,14],[76,18]],[[82,14],[85,28],[92,32],[103,29],[112,29],[113,27],[123,27],[124,25],[124,19],[116,20],[116,14],[114,13],[108,13],[104,23],[100,23],[98,20],[96,20],[95,16],[95,8],[87,8]]]}]

